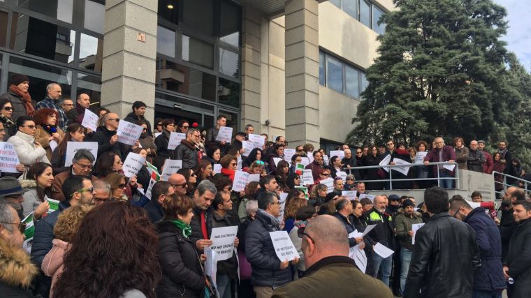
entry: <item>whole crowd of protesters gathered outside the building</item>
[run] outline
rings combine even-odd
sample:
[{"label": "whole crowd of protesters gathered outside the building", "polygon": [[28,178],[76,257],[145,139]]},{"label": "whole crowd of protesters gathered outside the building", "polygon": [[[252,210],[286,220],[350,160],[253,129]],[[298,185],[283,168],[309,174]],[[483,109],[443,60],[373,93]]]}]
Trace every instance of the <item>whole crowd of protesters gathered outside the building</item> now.
[{"label": "whole crowd of protesters gathered outside the building", "polygon": [[[389,140],[356,147],[354,155],[343,145],[342,156],[297,144],[285,158],[282,136],[269,141],[262,134],[263,144],[247,152],[252,125],[219,141],[224,116],[208,129],[184,119],[155,119],[152,126],[142,101],[123,120],[104,107],[94,110],[99,125],[92,131],[82,126],[87,94],[74,105],[51,83],[36,102],[26,76],[13,75],[11,83],[0,96],[0,141],[13,145],[20,164],[17,173],[0,173],[2,297],[501,297],[506,288],[509,297],[528,297],[531,291],[531,203],[518,181],[509,181],[514,186],[493,214],[474,204],[481,193],[450,200],[444,188],[453,187],[451,179],[440,179],[440,187],[407,179],[451,178],[457,168],[525,179],[507,142],[492,155],[483,151],[485,142],[471,140],[469,149],[460,137],[454,147],[437,137],[409,149]],[[142,126],[134,145],[119,142],[120,121]],[[173,132],[185,138],[170,149]],[[69,142],[97,142],[97,154],[79,149],[66,161]],[[390,165],[415,163],[422,151],[420,166],[392,174],[402,179],[393,189],[426,188],[423,203],[368,195],[387,187],[388,172],[357,167],[380,165],[388,155]],[[127,177],[131,153],[145,163]],[[182,167],[163,177],[168,160]],[[457,168],[431,164],[440,161]],[[301,163],[312,183],[304,183]],[[234,191],[238,171],[258,174],[258,181]],[[233,255],[214,262],[210,276],[212,230],[233,226]],[[277,258],[275,231],[289,234],[300,258]],[[393,253],[382,256],[382,246]],[[351,258],[353,248],[363,251],[364,269]]]}]

